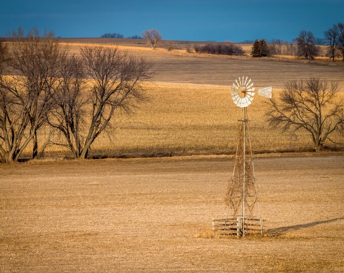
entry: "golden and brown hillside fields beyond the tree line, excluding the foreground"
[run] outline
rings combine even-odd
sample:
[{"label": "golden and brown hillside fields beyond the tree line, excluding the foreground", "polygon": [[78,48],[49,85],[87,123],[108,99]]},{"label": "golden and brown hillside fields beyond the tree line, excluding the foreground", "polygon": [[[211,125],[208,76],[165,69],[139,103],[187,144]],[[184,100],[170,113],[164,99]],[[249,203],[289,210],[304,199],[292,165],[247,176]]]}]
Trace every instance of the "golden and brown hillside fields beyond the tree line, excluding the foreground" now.
[{"label": "golden and brown hillside fields beyond the tree line, excluding the foreground", "polygon": [[[62,40],[70,54],[79,54],[80,47],[100,45],[113,39]],[[121,40],[121,39],[114,39]],[[126,41],[125,41],[126,40]],[[116,42],[117,42],[116,41]],[[127,42],[127,43],[126,43]],[[131,43],[129,43],[131,42]],[[303,60],[288,62],[281,59],[259,59],[247,56],[218,56],[189,54],[185,49],[153,51],[144,40],[140,44],[124,41],[120,44],[103,43],[120,51],[144,57],[154,63],[152,82],[144,84],[147,101],[138,105],[130,115],[117,112],[108,133],[101,134],[92,145],[93,157],[169,156],[190,154],[233,154],[236,145],[237,120],[241,109],[230,99],[230,85],[238,76],[247,75],[256,90],[272,86],[278,96],[284,84],[292,79],[311,76],[335,80],[340,87],[337,100],[343,100],[344,66],[339,64],[307,63]],[[180,44],[186,47],[187,44]],[[248,50],[250,44],[245,44]],[[248,109],[251,143],[254,153],[312,151],[310,135],[300,130],[296,134],[271,128],[266,121],[269,100],[257,94]],[[47,142],[48,128],[38,132],[39,147]],[[342,139],[331,138],[325,150],[341,149]],[[339,144],[338,144],[339,143]],[[28,146],[24,157],[30,157]],[[45,150],[46,157],[68,157],[65,148],[52,146]]]}]

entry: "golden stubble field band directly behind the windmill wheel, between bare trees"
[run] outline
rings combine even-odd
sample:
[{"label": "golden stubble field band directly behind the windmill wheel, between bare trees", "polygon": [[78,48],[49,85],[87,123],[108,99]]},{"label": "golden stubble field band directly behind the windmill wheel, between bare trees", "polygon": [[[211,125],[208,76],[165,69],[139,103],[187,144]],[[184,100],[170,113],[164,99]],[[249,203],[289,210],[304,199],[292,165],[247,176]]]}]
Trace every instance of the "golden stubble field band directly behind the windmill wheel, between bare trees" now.
[{"label": "golden stubble field band directly behind the windmill wheel, between bare trees", "polygon": [[[116,115],[112,141],[102,134],[92,147],[93,155],[156,156],[159,154],[234,153],[238,119],[242,109],[230,99],[229,88],[219,85],[146,83],[147,103],[130,116]],[[257,87],[258,88],[258,87]],[[275,90],[275,96],[278,90]],[[340,94],[339,100],[344,99]],[[312,151],[307,132],[297,138],[290,132],[271,128],[265,117],[268,99],[255,96],[248,108],[252,149],[255,153]],[[40,131],[39,142],[48,130]],[[342,141],[334,138],[334,141]],[[332,146],[330,142],[326,143]],[[30,149],[30,148],[29,148]],[[47,149],[47,155],[68,155],[60,147]],[[29,156],[29,152],[27,152]]]}]

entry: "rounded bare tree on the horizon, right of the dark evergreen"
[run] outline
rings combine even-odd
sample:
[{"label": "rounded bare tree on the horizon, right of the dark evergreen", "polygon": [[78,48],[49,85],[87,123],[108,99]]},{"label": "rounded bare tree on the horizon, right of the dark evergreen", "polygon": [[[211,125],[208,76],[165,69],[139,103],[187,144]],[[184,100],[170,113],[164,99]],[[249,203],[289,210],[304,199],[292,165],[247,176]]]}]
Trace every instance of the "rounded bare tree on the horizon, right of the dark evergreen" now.
[{"label": "rounded bare tree on the horizon, right of the dark evergreen", "polygon": [[313,60],[319,54],[320,48],[314,42],[312,31],[302,30],[296,38],[297,56]]}]

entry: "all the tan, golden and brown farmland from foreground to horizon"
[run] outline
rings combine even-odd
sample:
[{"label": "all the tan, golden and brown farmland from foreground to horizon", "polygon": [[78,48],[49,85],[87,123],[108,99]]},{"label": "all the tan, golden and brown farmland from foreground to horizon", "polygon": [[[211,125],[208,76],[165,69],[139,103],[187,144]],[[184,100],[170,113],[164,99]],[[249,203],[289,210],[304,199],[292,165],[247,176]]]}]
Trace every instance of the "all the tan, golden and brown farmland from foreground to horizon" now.
[{"label": "all the tan, golden and brown farmland from foreground to horizon", "polygon": [[[257,90],[272,86],[278,98],[286,82],[320,77],[338,82],[344,101],[344,65],[254,59],[250,44],[237,57],[187,53],[192,42],[153,51],[116,40],[61,39],[70,54],[105,44],[154,62],[146,100],[115,113],[87,160],[61,146],[42,152],[50,135],[42,127],[38,159],[25,160],[29,145],[24,162],[0,164],[0,271],[343,272],[343,135],[315,153],[308,132],[268,124],[269,99]],[[256,88],[247,112],[263,238],[211,229],[226,214],[243,117],[230,86],[243,75]]]}]

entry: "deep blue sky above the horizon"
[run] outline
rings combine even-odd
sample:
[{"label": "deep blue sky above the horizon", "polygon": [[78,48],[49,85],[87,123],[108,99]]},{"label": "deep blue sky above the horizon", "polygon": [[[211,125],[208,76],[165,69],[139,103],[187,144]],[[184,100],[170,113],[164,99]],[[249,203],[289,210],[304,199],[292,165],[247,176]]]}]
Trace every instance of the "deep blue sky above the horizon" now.
[{"label": "deep blue sky above the horizon", "polygon": [[106,32],[141,35],[156,28],[163,39],[292,40],[300,30],[323,37],[344,22],[344,0],[0,0],[0,35],[22,26],[54,30],[61,37],[99,37]]}]

